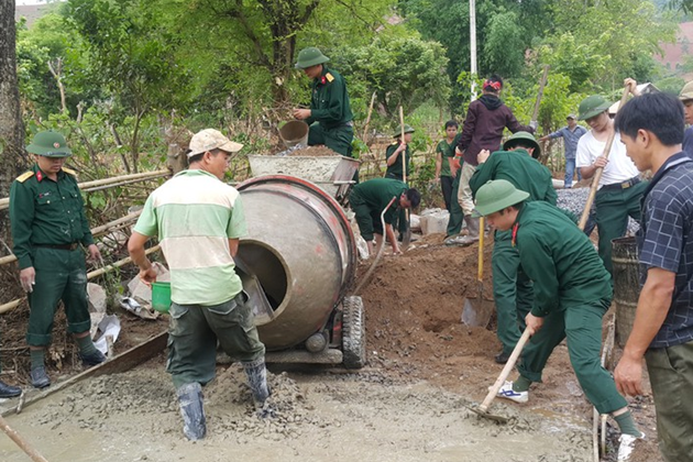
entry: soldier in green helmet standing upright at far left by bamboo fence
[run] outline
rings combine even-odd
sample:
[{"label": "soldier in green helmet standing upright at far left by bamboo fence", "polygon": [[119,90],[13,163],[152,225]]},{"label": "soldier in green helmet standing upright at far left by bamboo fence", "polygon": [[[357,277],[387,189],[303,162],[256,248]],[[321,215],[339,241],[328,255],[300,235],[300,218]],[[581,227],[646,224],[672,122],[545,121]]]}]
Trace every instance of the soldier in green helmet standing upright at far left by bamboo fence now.
[{"label": "soldier in green helmet standing upright at far left by bamboo fence", "polygon": [[63,166],[72,154],[63,135],[37,133],[26,151],[35,154],[36,164],[12,183],[10,220],[20,280],[29,296],[31,383],[44,388],[51,385],[44,356],[59,300],[65,304],[67,331],[75,334],[82,363],[96,365],[106,360],[89,336],[87,271],[80,244],[91,258],[101,255],[85,216],[76,173]]}]

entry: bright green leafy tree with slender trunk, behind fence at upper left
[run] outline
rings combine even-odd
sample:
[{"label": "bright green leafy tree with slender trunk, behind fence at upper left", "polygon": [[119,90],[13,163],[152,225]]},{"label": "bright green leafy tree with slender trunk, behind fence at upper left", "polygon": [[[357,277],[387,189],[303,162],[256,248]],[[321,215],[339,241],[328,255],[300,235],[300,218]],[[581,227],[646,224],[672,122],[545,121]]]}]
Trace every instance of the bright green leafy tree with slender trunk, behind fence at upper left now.
[{"label": "bright green leafy tree with slender trunk, behind fence at upper left", "polygon": [[175,59],[177,37],[162,25],[161,11],[143,0],[69,0],[67,14],[87,45],[92,81],[120,103],[111,121],[116,139],[123,135],[116,124],[125,118],[118,110],[128,108],[133,118],[131,164],[124,167],[136,172],[143,118],[174,109],[187,97],[186,76]]}]

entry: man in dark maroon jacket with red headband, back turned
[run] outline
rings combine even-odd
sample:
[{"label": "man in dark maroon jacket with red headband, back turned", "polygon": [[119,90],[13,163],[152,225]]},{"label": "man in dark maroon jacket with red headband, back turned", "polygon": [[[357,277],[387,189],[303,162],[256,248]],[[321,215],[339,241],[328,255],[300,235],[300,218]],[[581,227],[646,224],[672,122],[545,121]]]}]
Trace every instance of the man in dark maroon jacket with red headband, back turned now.
[{"label": "man in dark maroon jacket with red headband, back turned", "polygon": [[[498,151],[503,130],[506,128],[513,133],[519,131],[534,133],[537,127],[536,121],[530,122],[529,127],[520,125],[513,116],[513,111],[498,98],[502,88],[503,79],[496,75],[491,76],[484,81],[482,97],[472,101],[466,111],[464,129],[458,142],[455,160],[452,163],[453,168],[459,167],[459,158],[464,156],[457,199],[464,212],[469,234],[447,239],[446,244],[448,245],[470,245],[479,241],[479,219],[472,218],[474,201],[470,188],[470,178],[479,165],[476,161],[479,153],[482,150]],[[454,165],[455,163],[458,165]]]}]

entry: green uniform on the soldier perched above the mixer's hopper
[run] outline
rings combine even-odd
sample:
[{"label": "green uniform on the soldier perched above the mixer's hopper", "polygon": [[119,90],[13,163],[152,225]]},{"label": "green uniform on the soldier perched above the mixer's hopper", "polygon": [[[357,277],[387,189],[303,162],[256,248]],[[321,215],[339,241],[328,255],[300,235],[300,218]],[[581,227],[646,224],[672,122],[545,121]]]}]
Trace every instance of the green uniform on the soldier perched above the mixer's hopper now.
[{"label": "green uniform on the soldier perched above the mixer's hopper", "polygon": [[310,86],[310,125],[308,145],[324,144],[330,150],[351,157],[354,138],[353,114],[344,78],[322,66],[322,75]]}]

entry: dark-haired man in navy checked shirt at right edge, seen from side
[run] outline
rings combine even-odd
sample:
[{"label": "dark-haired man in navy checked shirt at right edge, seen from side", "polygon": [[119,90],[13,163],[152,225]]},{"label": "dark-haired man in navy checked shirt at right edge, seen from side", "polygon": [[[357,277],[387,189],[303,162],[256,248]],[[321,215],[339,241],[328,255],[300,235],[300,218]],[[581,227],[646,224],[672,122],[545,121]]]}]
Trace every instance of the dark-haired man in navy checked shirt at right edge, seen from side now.
[{"label": "dark-haired man in navy checked shirt at right edge, seen from side", "polygon": [[667,462],[693,454],[693,160],[681,151],[683,120],[675,97],[649,94],[615,121],[628,156],[653,177],[637,238],[642,288],[614,378],[619,392],[641,395],[645,356]]}]

